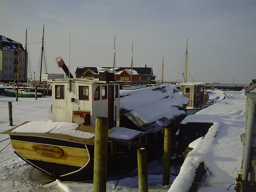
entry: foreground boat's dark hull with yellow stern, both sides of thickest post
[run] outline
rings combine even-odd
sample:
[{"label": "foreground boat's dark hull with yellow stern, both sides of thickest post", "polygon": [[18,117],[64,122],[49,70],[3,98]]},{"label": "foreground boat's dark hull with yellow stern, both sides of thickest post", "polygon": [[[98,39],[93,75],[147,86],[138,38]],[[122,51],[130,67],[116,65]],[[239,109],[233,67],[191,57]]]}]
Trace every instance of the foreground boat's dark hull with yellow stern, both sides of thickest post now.
[{"label": "foreground boat's dark hull with yellow stern, both sides of thickest post", "polygon": [[[93,154],[94,146],[76,143],[72,141],[26,136],[10,135],[12,147],[16,155],[32,165],[36,169],[59,180],[88,180],[93,179]],[[44,148],[52,147],[62,150],[63,155],[54,157],[54,154],[45,156],[38,154],[33,146],[41,145]],[[88,147],[88,148],[87,148]],[[41,150],[55,153],[56,150]],[[132,171],[137,167],[136,154],[122,153],[108,157],[107,176]]]}]

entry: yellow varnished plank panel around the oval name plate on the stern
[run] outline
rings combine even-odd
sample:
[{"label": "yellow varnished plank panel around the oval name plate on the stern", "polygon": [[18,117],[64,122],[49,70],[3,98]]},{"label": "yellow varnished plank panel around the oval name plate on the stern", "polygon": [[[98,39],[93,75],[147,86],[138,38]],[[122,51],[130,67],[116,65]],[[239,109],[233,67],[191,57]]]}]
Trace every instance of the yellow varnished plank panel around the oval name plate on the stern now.
[{"label": "yellow varnished plank panel around the oval name plate on the stern", "polygon": [[[63,146],[53,146],[62,150],[63,154],[60,157],[56,156],[45,156],[36,153],[32,146],[38,143],[11,140],[12,147],[24,158],[35,159],[39,161],[47,161],[52,163],[68,164],[74,166],[84,166],[89,161],[89,153],[87,149],[81,148],[69,148]],[[48,145],[50,146],[50,145]]]}]

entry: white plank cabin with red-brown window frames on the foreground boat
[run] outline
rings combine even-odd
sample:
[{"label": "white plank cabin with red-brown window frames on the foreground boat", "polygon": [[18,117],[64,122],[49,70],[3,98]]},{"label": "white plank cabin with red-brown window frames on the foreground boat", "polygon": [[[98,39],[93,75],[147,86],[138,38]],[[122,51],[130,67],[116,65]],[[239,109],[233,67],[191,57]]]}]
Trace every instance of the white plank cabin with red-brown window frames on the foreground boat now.
[{"label": "white plank cabin with red-brown window frames on the foreground boat", "polygon": [[88,79],[52,80],[52,121],[95,126],[97,116],[119,126],[119,84]]}]

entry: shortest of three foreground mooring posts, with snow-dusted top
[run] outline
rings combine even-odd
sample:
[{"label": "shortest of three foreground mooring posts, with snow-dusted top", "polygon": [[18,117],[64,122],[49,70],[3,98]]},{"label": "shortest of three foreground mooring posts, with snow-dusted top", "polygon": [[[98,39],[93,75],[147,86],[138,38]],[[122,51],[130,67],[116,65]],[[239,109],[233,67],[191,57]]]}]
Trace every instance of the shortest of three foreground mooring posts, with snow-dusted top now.
[{"label": "shortest of three foreground mooring posts, with snow-dusted top", "polygon": [[148,192],[147,149],[138,148],[137,156],[138,156],[139,192]]}]

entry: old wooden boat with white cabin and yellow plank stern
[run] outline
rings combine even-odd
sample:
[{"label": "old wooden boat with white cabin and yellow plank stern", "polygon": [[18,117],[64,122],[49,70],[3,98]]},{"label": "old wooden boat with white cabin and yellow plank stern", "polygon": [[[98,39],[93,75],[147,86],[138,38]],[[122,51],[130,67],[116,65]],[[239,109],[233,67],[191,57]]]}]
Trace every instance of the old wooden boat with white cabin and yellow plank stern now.
[{"label": "old wooden boat with white cabin and yellow plank stern", "polygon": [[[56,61],[59,67],[67,68],[60,57]],[[119,127],[119,85],[109,79],[53,79],[52,122],[25,122],[1,134],[9,134],[20,158],[53,179],[92,179],[95,119],[106,116],[110,128],[107,176],[129,172],[137,167],[137,148],[147,148],[148,162],[163,154],[163,127],[175,127],[184,113],[183,118],[176,114],[173,119],[162,118],[149,124],[124,111],[125,116],[137,122],[137,127]],[[164,92],[164,88],[159,89]],[[126,121],[131,123],[128,118]]]}]

